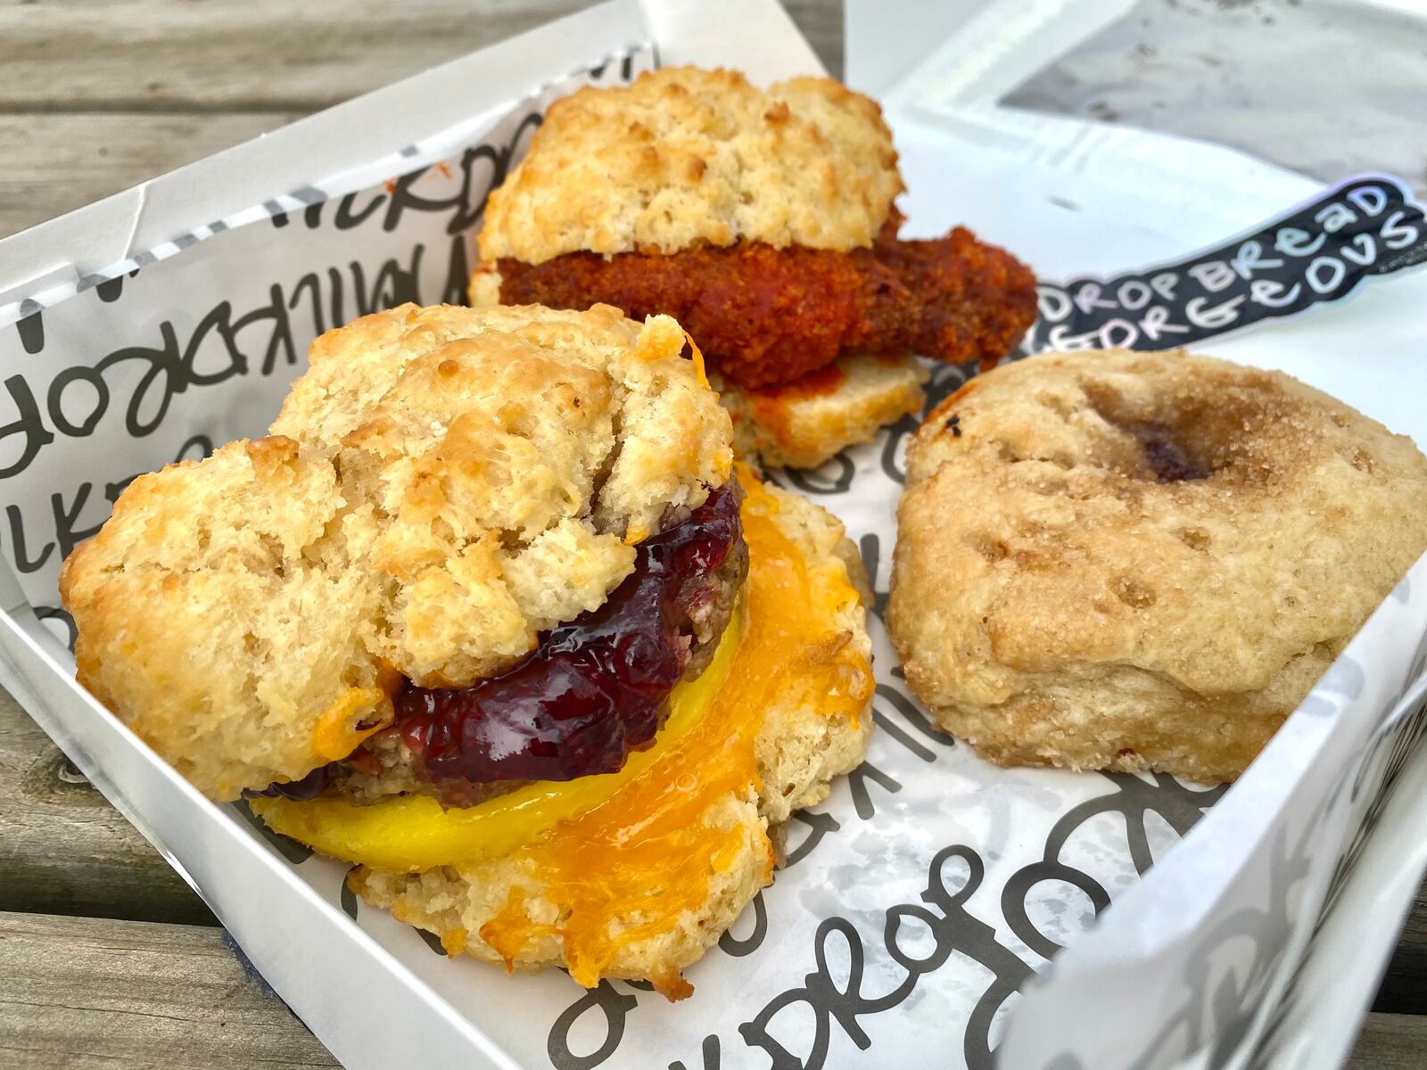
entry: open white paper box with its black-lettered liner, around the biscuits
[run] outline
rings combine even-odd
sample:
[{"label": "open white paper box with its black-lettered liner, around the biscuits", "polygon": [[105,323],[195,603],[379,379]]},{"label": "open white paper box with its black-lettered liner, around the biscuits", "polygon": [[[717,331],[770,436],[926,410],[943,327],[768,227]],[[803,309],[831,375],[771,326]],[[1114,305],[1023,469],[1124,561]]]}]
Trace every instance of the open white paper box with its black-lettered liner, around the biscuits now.
[{"label": "open white paper box with its black-lettered liner, around the biscuits", "polygon": [[[1059,17],[1063,6],[1036,7]],[[995,26],[1025,43],[1043,23],[963,31]],[[1013,46],[999,50],[1016,57]],[[888,93],[909,233],[966,223],[1063,278],[1173,260],[1314,190],[1210,146],[997,108],[973,90],[1005,88],[1005,70],[949,70],[959,54],[972,50],[932,50]],[[585,993],[558,973],[447,960],[358,906],[345,866],[200,798],[74,685],[61,618],[31,605],[56,605],[59,561],[123,482],[260,434],[318,331],[404,297],[458,298],[481,195],[524,150],[531,116],[584,81],[685,60],[763,81],[816,68],[769,3],[615,0],[0,243],[0,468],[14,469],[0,682],[347,1066],[982,1067],[1007,1016],[1012,1067],[1172,1066],[1214,1046],[1222,1064],[1331,1066],[1424,856],[1400,792],[1380,792],[1423,776],[1410,745],[1424,566],[1227,795],[992,768],[928,729],[875,621],[880,730],[868,765],[792,825],[788,867],[689,970],[696,992],[679,1004],[625,983]],[[1427,442],[1414,360],[1424,300],[1423,275],[1393,280],[1206,348],[1281,367]],[[962,374],[940,370],[936,388]],[[880,592],[906,429],[781,477],[843,518]],[[1373,835],[1354,846],[1364,823]],[[1286,886],[1283,857],[1297,866]],[[1344,942],[1341,912],[1374,886],[1374,924]],[[1226,943],[1226,919],[1246,910],[1261,923]],[[1066,943],[1056,979],[1013,1010]]]}]

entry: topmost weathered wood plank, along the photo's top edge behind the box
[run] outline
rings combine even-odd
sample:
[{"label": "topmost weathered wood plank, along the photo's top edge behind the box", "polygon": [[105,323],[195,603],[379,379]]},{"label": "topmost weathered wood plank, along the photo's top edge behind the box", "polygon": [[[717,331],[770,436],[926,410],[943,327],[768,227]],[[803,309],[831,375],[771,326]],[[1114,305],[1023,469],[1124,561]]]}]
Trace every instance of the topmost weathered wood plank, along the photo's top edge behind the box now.
[{"label": "topmost weathered wood plank, along the photo's top edge behind the box", "polygon": [[[313,111],[592,0],[107,0],[0,4],[0,110]],[[793,19],[842,68],[842,4]]]}]

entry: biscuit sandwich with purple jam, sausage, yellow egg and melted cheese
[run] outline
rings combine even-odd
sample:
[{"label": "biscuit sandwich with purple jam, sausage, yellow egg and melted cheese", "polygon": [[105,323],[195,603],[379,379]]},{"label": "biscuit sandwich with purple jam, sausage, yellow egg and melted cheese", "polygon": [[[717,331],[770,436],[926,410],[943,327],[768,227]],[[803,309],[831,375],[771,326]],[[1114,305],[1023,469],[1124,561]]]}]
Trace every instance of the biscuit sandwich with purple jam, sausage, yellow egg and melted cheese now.
[{"label": "biscuit sandwich with purple jam, sausage, yellow egg and melted cheese", "polygon": [[78,679],[445,949],[676,999],[866,749],[842,526],[668,317],[404,305],[66,561]]}]

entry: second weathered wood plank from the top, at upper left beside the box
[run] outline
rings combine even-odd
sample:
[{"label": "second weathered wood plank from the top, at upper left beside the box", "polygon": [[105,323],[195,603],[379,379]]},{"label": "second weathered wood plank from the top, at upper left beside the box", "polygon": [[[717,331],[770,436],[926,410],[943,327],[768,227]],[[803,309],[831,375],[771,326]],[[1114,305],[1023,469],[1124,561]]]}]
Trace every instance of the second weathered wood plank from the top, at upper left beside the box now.
[{"label": "second weathered wood plank from the top, at upper left beside the box", "polygon": [[0,238],[275,130],[300,114],[0,114],[0,158],[6,161]]}]

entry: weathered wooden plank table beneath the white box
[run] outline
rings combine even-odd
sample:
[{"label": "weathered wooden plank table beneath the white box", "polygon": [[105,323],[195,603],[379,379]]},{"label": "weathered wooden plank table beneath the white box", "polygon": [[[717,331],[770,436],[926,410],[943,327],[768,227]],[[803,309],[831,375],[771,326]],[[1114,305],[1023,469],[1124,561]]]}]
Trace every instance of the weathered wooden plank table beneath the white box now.
[{"label": "weathered wooden plank table beneath the white box", "polygon": [[[1152,11],[1160,16],[1199,4],[1204,17],[1247,17],[1247,0],[1152,4],[1166,4]],[[0,237],[582,6],[4,0]],[[841,71],[841,3],[795,0],[789,9],[829,68]],[[1260,14],[1254,4],[1253,17]],[[1169,57],[1169,37],[1179,34],[1163,20],[1140,26],[1166,40],[1136,49]],[[1123,77],[1097,63],[1104,93],[1089,94],[1095,98],[1067,88],[1076,86],[1073,66],[1037,78],[1017,98],[1199,136],[1213,133],[1219,107],[1243,130],[1241,80],[1232,94],[1216,96],[1217,83],[1190,93],[1170,58],[1156,67],[1144,54]],[[1176,100],[1186,107],[1176,110]],[[1260,153],[1274,158],[1273,144]],[[1329,163],[1320,168],[1301,156],[1297,146],[1293,160],[1287,151],[1281,158],[1324,178],[1381,165],[1344,161],[1341,146],[1324,147]],[[203,902],[0,692],[0,1066],[257,1064],[335,1061],[244,972]],[[1351,1066],[1427,1066],[1423,895]]]}]

